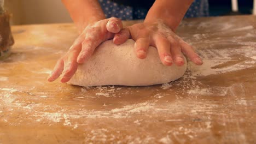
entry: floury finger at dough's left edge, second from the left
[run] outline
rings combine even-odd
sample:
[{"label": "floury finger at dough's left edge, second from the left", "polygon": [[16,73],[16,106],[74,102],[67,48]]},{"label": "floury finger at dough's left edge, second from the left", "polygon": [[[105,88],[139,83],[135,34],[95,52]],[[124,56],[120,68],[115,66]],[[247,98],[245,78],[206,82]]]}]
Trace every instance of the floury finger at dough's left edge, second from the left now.
[{"label": "floury finger at dough's left edge, second from the left", "polygon": [[63,76],[61,78],[61,82],[65,83],[68,82],[71,77],[74,75],[75,71],[77,71],[78,63],[77,63],[77,56],[79,55],[79,51],[73,51],[67,61],[64,63],[65,68],[63,70]]}]

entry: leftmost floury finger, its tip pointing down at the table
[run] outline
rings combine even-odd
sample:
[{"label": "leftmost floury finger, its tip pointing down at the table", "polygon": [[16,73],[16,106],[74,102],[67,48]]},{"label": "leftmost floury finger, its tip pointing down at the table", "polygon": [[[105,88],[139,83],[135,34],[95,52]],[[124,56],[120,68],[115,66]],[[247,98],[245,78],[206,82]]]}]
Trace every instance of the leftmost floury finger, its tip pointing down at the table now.
[{"label": "leftmost floury finger, its tip pointing down at the table", "polygon": [[51,75],[48,77],[49,82],[55,81],[62,73],[64,67],[63,59],[61,58],[59,61],[57,61],[54,70],[51,72]]}]

